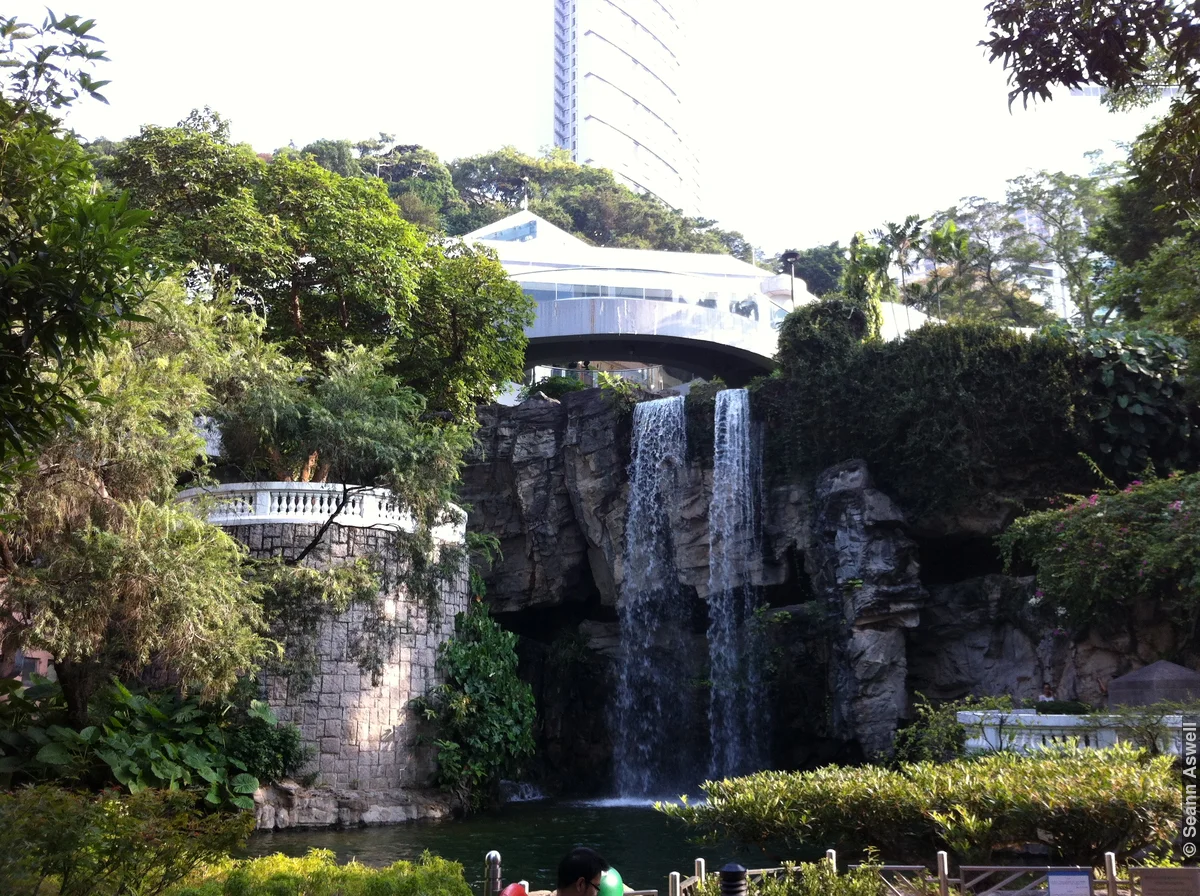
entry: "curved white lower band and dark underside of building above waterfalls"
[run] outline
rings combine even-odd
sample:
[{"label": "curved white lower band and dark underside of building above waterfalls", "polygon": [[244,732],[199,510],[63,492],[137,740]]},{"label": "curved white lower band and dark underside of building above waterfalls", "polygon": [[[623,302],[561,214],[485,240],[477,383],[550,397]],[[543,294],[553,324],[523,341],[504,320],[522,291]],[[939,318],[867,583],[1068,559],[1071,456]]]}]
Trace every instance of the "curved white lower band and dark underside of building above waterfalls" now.
[{"label": "curved white lower band and dark underside of building above waterfalls", "polygon": [[526,336],[526,367],[559,359],[630,359],[744,385],[775,366],[776,332],[767,315],[756,320],[650,299],[539,301]]}]

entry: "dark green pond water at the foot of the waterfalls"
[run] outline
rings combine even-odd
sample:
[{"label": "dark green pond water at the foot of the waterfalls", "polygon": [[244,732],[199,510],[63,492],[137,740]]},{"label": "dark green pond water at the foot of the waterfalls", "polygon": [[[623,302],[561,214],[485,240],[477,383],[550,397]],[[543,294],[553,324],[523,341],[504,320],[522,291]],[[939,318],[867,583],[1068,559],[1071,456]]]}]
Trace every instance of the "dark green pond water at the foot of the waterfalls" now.
[{"label": "dark green pond water at the foot of the waterfalls", "polygon": [[574,846],[598,849],[625,883],[635,889],[667,890],[667,874],[692,873],[697,858],[715,871],[736,860],[761,867],[763,858],[730,847],[700,847],[684,828],[649,805],[617,801],[509,802],[499,810],[464,820],[420,822],[379,828],[256,834],[247,855],[283,853],[304,855],[308,849],[332,849],[338,861],[356,859],[365,865],[388,865],[415,859],[428,849],[462,862],[467,880],[482,890],[484,855],[502,856],[504,883],[528,880],[534,889],[553,889],[554,870]]}]

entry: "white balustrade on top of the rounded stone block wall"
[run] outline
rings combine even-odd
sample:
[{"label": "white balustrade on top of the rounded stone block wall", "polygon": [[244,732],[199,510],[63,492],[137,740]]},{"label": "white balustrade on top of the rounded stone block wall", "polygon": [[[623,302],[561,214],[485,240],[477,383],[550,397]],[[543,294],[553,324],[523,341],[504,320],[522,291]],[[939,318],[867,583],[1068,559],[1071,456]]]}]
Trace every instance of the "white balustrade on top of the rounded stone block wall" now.
[{"label": "white balustrade on top of the rounded stone block wall", "polygon": [[[360,529],[415,529],[413,515],[389,489],[340,482],[230,482],[188,488],[180,492],[179,500],[204,504],[214,525],[320,524],[334,517],[338,525]],[[451,519],[433,530],[433,539],[443,545],[462,543],[467,539],[467,515],[452,504],[446,510]]]}]

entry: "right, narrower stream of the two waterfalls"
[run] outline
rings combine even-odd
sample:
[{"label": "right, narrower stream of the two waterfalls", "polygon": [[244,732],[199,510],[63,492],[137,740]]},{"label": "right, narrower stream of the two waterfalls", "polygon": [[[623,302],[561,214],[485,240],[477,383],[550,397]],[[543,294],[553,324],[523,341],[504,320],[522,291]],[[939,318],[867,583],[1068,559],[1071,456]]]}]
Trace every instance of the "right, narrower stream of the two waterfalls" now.
[{"label": "right, narrower stream of the two waterfalls", "polygon": [[758,591],[750,571],[761,553],[755,498],[761,464],[744,389],[716,393],[713,498],[708,509],[708,710],[714,778],[763,768],[767,730],[761,651],[752,632]]}]

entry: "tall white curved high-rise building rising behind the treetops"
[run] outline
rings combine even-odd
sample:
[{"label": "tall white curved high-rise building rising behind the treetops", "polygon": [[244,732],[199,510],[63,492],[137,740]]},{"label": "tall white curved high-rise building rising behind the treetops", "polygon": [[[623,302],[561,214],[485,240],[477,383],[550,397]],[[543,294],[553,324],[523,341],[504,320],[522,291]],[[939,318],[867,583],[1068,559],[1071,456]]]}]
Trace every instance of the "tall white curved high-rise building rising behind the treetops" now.
[{"label": "tall white curved high-rise building rising behind the treetops", "polygon": [[689,143],[695,0],[554,0],[554,143],[634,190],[700,211]]}]

